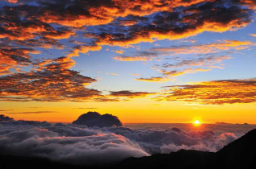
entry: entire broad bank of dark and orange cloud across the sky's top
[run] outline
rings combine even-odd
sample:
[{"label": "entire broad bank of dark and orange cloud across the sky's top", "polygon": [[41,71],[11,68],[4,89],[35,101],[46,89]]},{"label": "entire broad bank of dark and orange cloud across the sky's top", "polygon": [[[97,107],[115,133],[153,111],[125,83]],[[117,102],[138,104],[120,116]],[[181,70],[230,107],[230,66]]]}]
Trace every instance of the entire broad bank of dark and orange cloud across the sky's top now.
[{"label": "entire broad bank of dark and orange cloud across the sky's top", "polygon": [[86,52],[84,47],[127,46],[152,42],[154,38],[180,39],[203,31],[244,27],[251,22],[254,6],[253,0],[19,1],[18,5],[2,7],[0,37],[16,44],[32,40],[51,46],[59,43],[52,41],[67,39],[81,31],[81,27],[97,26],[97,31],[86,31],[86,37],[92,38],[93,43],[75,44],[73,55],[78,55]]}]

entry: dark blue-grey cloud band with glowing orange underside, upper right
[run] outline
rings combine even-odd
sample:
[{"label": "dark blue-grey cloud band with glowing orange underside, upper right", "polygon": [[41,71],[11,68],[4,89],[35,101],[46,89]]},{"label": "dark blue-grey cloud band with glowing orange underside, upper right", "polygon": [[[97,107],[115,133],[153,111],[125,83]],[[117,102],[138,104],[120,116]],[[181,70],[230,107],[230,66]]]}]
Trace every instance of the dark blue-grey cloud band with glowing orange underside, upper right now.
[{"label": "dark blue-grey cloud band with glowing orange underside, upper right", "polygon": [[128,46],[132,43],[153,42],[153,39],[181,39],[204,31],[228,31],[251,22],[252,10],[249,6],[247,9],[244,7],[241,2],[234,1],[195,2],[191,6],[180,4],[180,7],[172,10],[143,16],[148,19],[141,19],[132,26],[100,27],[100,33],[95,33],[95,43]]}]

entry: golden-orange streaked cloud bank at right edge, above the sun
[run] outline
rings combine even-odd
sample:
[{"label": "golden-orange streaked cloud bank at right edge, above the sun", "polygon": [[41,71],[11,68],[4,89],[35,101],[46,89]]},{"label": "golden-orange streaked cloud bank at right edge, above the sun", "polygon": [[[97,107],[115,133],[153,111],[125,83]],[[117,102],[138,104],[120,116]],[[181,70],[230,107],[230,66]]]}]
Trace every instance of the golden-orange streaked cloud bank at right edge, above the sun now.
[{"label": "golden-orange streaked cloud bank at right edge, above the sun", "polygon": [[208,105],[254,103],[256,80],[215,80],[194,85],[169,86],[170,92],[158,96],[158,100],[188,101]]}]

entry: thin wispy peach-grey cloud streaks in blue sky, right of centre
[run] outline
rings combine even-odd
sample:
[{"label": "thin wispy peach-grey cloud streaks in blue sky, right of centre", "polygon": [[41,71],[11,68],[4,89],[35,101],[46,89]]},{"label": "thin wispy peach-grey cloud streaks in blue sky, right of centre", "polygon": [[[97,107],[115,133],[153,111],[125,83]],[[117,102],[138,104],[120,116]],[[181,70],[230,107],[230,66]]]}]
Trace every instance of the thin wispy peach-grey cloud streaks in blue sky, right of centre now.
[{"label": "thin wispy peach-grey cloud streaks in blue sky, right of centre", "polygon": [[[141,77],[136,80],[149,82],[166,81],[171,76],[181,76],[187,73],[206,72],[212,68],[223,68],[220,64],[223,60],[229,60],[231,56],[223,56],[219,52],[230,52],[233,50],[248,49],[256,46],[250,41],[223,40],[217,43],[191,44],[171,47],[153,47],[147,51],[136,52],[135,56],[115,56],[118,61],[147,61],[161,60],[163,56],[180,56],[177,59],[170,58],[164,64],[155,64],[152,68],[162,73],[159,77]],[[189,54],[197,55],[193,58]],[[175,63],[176,62],[176,63]],[[183,68],[183,69],[182,69]],[[170,70],[171,69],[171,70]],[[182,70],[181,70],[182,69]]]}]

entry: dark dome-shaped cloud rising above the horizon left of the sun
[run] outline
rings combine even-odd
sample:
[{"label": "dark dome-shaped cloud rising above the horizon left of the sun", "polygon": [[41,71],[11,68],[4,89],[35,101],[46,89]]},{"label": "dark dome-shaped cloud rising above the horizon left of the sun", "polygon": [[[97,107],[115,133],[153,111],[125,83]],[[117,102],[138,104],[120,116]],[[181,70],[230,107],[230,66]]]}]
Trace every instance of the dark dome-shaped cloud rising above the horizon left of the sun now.
[{"label": "dark dome-shaped cloud rising above the horizon left of the sun", "polygon": [[88,112],[82,114],[76,121],[73,121],[74,125],[86,125],[86,126],[123,126],[118,117],[109,113],[101,115],[97,112]]}]

